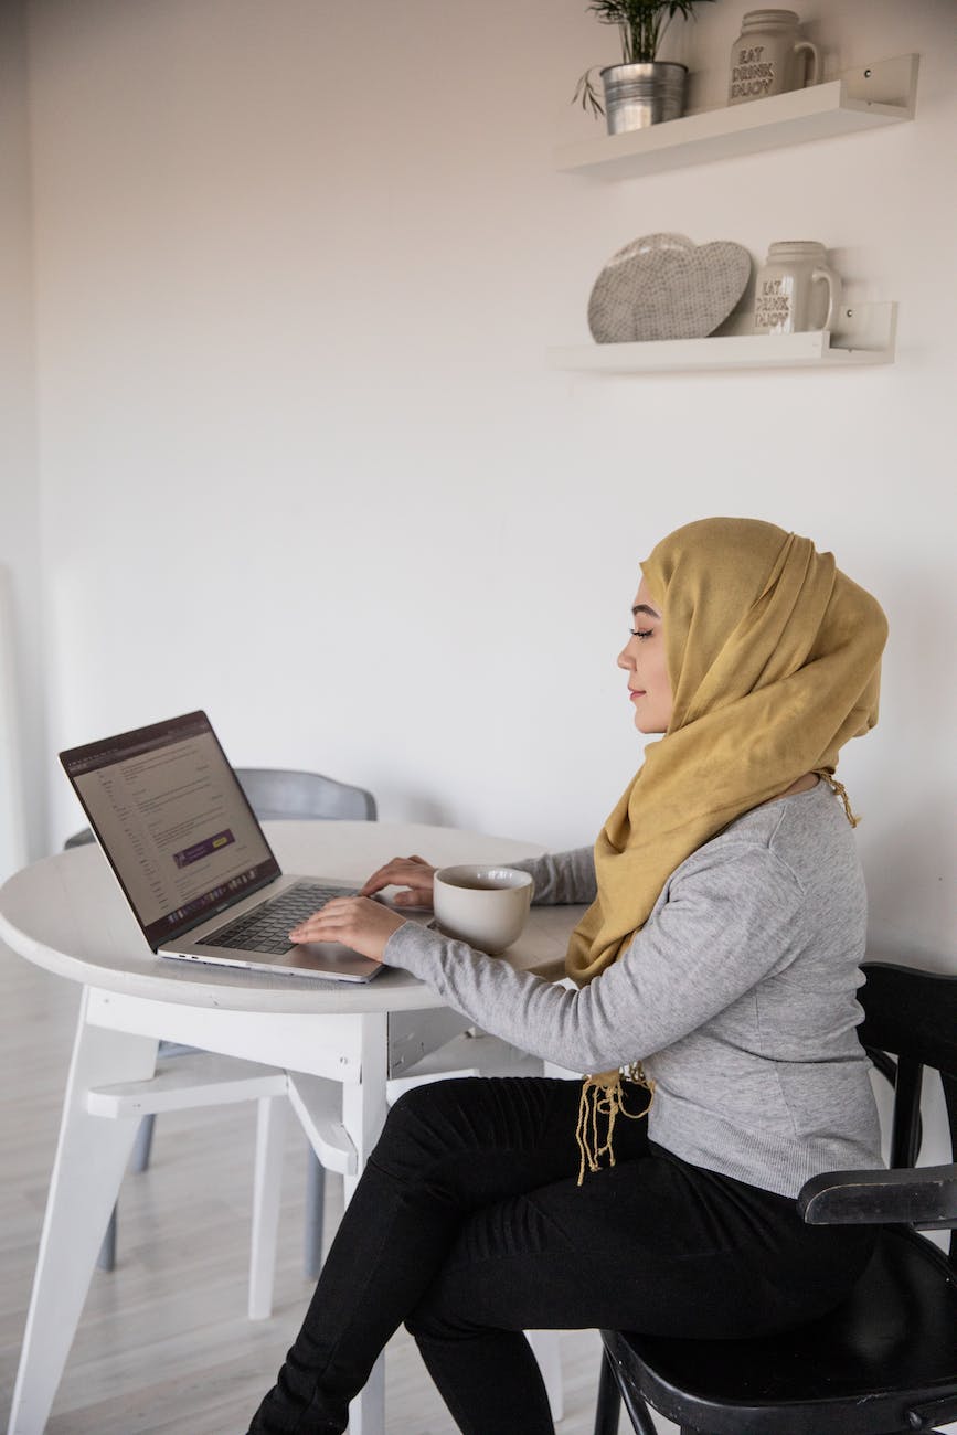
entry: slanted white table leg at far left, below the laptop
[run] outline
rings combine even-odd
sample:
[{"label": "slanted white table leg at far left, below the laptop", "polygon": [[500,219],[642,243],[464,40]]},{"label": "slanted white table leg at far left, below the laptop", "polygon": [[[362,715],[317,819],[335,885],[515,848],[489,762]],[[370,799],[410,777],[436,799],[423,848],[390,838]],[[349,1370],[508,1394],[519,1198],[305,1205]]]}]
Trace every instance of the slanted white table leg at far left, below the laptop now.
[{"label": "slanted white table leg at far left, below the laptop", "polygon": [[60,1137],[43,1218],[33,1294],[9,1435],[42,1435],[73,1343],[96,1253],[116,1201],[139,1118],[90,1116],[86,1092],[121,1081],[146,1081],[156,1040],[89,1026],[83,993],[63,1099]]}]

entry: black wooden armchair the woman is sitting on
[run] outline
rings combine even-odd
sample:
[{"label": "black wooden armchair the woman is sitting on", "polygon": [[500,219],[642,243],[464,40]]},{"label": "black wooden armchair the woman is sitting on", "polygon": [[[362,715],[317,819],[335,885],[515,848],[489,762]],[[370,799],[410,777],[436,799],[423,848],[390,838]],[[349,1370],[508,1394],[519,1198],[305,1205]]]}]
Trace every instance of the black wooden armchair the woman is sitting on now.
[{"label": "black wooden armchair the woman is sitting on", "polygon": [[[656,1435],[649,1406],[683,1435],[902,1435],[957,1419],[957,1164],[915,1167],[925,1066],[940,1072],[957,1162],[957,977],[864,971],[861,1040],[895,1085],[892,1170],[814,1177],[801,1211],[812,1225],[884,1225],[868,1269],[836,1310],[782,1336],[603,1330],[595,1435],[617,1432],[623,1401],[638,1435]],[[917,1234],[944,1228],[950,1257]]]}]

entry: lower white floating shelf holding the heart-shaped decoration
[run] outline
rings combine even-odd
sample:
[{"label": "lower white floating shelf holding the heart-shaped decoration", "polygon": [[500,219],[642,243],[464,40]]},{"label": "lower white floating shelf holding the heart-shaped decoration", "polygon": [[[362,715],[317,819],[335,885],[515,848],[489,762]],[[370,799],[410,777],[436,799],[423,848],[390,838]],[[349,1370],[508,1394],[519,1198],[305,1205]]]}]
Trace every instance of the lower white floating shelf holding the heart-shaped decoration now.
[{"label": "lower white floating shelf holding the heart-shaped decoration", "polygon": [[897,304],[841,310],[841,330],[803,334],[729,334],[660,339],[638,344],[552,349],[554,369],[591,373],[694,373],[716,369],[844,369],[894,362]]}]

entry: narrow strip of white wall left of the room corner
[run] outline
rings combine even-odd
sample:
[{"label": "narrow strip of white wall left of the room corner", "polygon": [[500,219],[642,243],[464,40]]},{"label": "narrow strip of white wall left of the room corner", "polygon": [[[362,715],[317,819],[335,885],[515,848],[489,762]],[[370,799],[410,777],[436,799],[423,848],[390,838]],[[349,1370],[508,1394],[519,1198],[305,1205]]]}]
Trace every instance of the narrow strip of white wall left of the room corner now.
[{"label": "narrow strip of white wall left of the room corner", "polygon": [[26,0],[9,0],[0,4],[0,881],[40,855],[46,834],[29,156]]}]

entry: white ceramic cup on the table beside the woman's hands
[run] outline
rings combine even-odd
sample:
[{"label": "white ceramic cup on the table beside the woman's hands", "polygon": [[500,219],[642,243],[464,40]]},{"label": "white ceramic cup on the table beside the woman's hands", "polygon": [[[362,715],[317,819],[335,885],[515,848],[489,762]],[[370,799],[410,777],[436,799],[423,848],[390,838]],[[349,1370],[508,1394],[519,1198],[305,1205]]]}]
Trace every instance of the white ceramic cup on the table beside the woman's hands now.
[{"label": "white ceramic cup on the table beside the woman's hands", "polygon": [[534,883],[515,867],[442,867],[435,874],[435,920],[446,937],[498,956],[521,936]]}]

